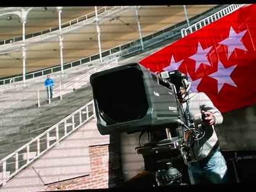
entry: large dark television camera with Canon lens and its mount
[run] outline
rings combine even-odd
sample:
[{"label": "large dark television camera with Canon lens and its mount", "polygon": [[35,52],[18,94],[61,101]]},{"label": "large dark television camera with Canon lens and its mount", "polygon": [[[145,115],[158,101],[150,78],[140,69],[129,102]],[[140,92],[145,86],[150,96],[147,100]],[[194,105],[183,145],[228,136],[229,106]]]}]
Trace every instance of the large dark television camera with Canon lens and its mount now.
[{"label": "large dark television camera with Canon lens and its mount", "polygon": [[138,63],[93,73],[96,124],[101,135],[147,132],[148,143],[135,148],[145,170],[155,173],[158,186],[181,185],[182,164],[194,158],[192,136],[176,87],[164,75]]}]

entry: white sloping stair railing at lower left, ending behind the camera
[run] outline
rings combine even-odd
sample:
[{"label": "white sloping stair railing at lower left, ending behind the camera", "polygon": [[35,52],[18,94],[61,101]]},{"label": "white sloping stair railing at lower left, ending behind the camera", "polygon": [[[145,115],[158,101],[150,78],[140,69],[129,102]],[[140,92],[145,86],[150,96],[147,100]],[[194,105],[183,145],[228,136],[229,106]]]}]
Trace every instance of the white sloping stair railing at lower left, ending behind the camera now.
[{"label": "white sloping stair railing at lower left, ending behind the camera", "polygon": [[[92,109],[91,111],[89,110],[89,107]],[[83,115],[83,110],[85,109],[85,115]],[[89,114],[92,113],[90,116]],[[79,115],[78,119],[78,125],[75,123],[75,115]],[[83,116],[85,117],[83,117]],[[4,157],[0,161],[0,166],[2,165],[2,180],[0,180],[0,185],[4,186],[6,185],[6,182],[10,180],[12,177],[17,175],[21,170],[23,170],[25,167],[27,167],[29,164],[32,164],[36,159],[38,159],[40,156],[42,156],[46,151],[49,149],[53,148],[53,146],[58,145],[61,140],[66,138],[66,136],[70,135],[73,131],[77,130],[81,125],[83,125],[85,122],[88,120],[92,119],[95,117],[95,107],[94,107],[94,102],[90,101],[84,106],[80,107],[76,111],[72,112],[72,114],[68,115],[64,119],[62,119],[60,122],[56,123],[52,127],[50,127],[48,130],[45,132],[41,133],[40,135],[36,136],[33,138],[31,141],[29,141],[27,144],[23,145],[21,148],[17,149],[16,151],[12,152],[8,156]],[[71,125],[68,125],[67,121],[71,120]],[[64,127],[63,127],[64,126]],[[72,126],[71,130],[68,130],[67,127]],[[64,135],[61,135],[61,127],[64,128]],[[54,136],[50,136],[53,134]],[[53,138],[53,139],[52,139]],[[40,142],[42,140],[45,140],[46,142],[46,149],[41,150],[40,149]],[[51,142],[51,143],[50,143]],[[30,151],[31,146],[36,146],[36,155],[32,158],[30,158],[30,154],[32,151]],[[26,161],[25,164],[22,164],[21,166],[19,165],[19,156],[21,154],[24,154],[25,151],[25,157],[26,159],[23,161]],[[19,153],[20,152],[20,153]],[[7,161],[15,159],[14,164],[9,164],[12,169],[14,169],[14,172],[10,172],[10,170],[7,170]],[[8,175],[7,173],[11,173]],[[1,177],[0,177],[1,178]]]}]

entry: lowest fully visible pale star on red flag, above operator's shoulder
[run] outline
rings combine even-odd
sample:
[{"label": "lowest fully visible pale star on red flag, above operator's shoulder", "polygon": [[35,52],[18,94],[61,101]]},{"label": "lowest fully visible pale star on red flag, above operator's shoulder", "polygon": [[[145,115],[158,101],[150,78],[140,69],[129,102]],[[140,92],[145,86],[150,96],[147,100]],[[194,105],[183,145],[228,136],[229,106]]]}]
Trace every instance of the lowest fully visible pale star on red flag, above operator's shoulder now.
[{"label": "lowest fully visible pale star on red flag, above operator's shoulder", "polygon": [[[232,86],[236,86],[236,83],[231,79],[230,74],[236,68],[236,65],[231,66],[227,69],[224,68],[223,64],[218,60],[218,70],[215,73],[208,75],[211,78],[215,78],[218,81],[218,93],[221,88],[223,88],[224,83],[227,83]],[[237,86],[236,86],[237,87]]]}]

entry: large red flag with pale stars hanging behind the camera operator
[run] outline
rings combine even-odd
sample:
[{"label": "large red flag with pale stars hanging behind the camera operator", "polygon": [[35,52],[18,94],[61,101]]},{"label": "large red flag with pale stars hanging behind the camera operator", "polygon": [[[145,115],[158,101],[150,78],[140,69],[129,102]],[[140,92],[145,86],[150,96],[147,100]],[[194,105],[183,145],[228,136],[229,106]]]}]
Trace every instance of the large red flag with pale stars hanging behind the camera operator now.
[{"label": "large red flag with pale stars hanging behind the camera operator", "polygon": [[152,72],[179,69],[221,112],[256,102],[256,4],[246,5],[142,59]]}]

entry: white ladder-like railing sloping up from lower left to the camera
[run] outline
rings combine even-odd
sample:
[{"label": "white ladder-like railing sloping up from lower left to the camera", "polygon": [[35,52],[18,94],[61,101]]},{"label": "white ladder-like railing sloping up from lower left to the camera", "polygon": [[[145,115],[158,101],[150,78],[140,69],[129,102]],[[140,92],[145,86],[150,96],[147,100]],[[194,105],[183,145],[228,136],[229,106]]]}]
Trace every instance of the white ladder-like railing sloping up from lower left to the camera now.
[{"label": "white ladder-like railing sloping up from lower left to the camera", "polygon": [[90,101],[9,156],[1,159],[0,185],[6,185],[8,180],[93,117],[95,117],[95,107],[94,102]]}]

